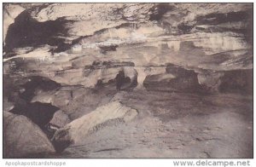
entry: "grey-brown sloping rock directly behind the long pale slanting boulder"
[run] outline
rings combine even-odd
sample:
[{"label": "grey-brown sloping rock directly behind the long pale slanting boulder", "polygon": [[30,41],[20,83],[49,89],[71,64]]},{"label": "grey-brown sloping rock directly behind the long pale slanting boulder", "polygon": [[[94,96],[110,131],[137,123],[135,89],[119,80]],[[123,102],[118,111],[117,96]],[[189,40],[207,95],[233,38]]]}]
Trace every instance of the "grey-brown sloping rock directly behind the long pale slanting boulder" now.
[{"label": "grey-brown sloping rock directly behind the long pale slanting boulder", "polygon": [[32,102],[50,103],[61,109],[71,120],[94,111],[96,107],[111,101],[114,89],[88,89],[81,86],[67,86],[52,92],[38,92]]}]

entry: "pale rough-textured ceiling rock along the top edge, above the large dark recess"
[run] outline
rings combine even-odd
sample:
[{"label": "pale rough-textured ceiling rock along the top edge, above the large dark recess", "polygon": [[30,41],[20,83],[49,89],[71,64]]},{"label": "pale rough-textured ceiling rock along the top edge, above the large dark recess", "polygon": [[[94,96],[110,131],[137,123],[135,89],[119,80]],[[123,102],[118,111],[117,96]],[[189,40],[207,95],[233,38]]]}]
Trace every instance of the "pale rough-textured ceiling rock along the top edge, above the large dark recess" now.
[{"label": "pale rough-textured ceiling rock along the top edge, above the large dark recess", "polygon": [[132,3],[56,3],[41,10],[32,11],[32,18],[38,22],[58,20],[59,18],[74,20],[73,25],[68,25],[69,34],[81,37],[93,35],[102,29],[120,26],[127,22],[148,20],[149,9],[153,6],[153,4]]}]

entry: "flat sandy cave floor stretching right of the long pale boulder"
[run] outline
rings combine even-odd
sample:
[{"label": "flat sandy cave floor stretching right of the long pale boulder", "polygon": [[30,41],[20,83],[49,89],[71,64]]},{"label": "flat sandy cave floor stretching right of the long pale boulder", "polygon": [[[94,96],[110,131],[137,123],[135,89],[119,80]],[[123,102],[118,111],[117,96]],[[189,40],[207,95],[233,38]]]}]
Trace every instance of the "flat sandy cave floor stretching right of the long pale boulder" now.
[{"label": "flat sandy cave floor stretching right of the long pale boulder", "polygon": [[112,101],[137,109],[49,158],[252,158],[252,95],[193,95],[135,89]]}]

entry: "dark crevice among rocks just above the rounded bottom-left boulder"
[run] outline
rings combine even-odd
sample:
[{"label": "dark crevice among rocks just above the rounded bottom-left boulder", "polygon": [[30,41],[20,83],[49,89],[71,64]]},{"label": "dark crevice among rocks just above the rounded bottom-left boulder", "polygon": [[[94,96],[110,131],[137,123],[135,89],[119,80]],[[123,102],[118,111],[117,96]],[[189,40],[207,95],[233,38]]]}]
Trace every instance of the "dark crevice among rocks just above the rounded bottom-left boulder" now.
[{"label": "dark crevice among rocks just above the rounded bottom-left boulder", "polygon": [[[11,81],[12,79],[9,79],[9,82]],[[15,104],[10,112],[30,118],[33,123],[38,124],[46,135],[51,137],[54,131],[49,130],[46,125],[59,108],[49,103],[31,102],[31,100],[37,91],[55,90],[60,88],[61,84],[55,83],[49,78],[35,76],[17,80],[5,87],[10,91],[8,94],[6,93],[8,100]]]}]

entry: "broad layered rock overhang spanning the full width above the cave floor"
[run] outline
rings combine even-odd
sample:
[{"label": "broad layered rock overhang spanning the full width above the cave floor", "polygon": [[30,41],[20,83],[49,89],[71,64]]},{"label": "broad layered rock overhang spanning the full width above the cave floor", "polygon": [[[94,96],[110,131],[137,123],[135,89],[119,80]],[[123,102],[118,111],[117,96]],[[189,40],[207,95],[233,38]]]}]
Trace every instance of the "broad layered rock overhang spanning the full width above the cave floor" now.
[{"label": "broad layered rock overhang spanning the full width above the cave floor", "polygon": [[199,72],[199,82],[215,91],[217,73],[253,68],[250,4],[54,3],[24,8],[9,26],[5,73],[94,88],[113,82],[124,70],[131,85],[143,89],[147,77],[154,83],[159,81],[155,78],[170,78],[162,71],[172,63],[206,71]]}]

